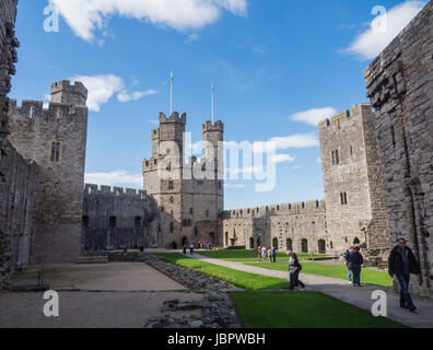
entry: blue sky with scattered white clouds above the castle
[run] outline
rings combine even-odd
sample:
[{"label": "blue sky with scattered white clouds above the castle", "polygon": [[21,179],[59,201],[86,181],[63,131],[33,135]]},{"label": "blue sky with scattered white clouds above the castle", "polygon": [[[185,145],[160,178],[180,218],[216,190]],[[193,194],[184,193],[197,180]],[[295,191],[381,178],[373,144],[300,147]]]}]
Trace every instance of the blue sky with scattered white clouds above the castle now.
[{"label": "blue sky with scattered white clouds above the castle", "polygon": [[[49,3],[59,10],[56,33],[44,31]],[[378,4],[387,10],[385,31],[372,31],[372,21],[385,19],[372,14]],[[151,129],[160,112],[168,114],[169,71],[174,109],[187,113],[194,141],[210,118],[213,81],[226,141],[290,140],[277,151],[274,189],[257,192],[255,182],[230,182],[226,209],[321,199],[315,124],[367,102],[363,70],[421,7],[389,0],[20,1],[11,97],[47,102],[51,82],[87,82],[86,179],[140,187]],[[316,142],[305,142],[312,138]]]}]

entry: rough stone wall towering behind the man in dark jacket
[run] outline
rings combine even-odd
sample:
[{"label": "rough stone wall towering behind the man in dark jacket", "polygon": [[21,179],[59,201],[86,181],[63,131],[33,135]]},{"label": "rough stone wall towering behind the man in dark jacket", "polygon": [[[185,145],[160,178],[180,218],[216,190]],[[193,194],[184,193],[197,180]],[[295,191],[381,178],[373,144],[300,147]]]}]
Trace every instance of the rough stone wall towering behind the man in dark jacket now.
[{"label": "rough stone wall towering behind the man in dark jacket", "polygon": [[391,247],[406,237],[421,260],[423,284],[433,279],[433,2],[365,71],[367,96],[385,159],[386,207]]}]

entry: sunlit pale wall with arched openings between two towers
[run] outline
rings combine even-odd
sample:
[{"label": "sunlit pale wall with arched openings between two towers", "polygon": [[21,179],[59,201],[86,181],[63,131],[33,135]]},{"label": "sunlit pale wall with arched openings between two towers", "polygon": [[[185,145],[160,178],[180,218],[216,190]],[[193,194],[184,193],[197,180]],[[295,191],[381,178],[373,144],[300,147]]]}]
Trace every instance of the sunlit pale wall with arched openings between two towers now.
[{"label": "sunlit pale wall with arched openings between two towers", "polygon": [[[250,249],[265,245],[282,252],[319,253],[319,241],[326,242],[325,202],[312,200],[224,211],[222,231],[225,247]],[[326,247],[320,252],[325,253]]]}]

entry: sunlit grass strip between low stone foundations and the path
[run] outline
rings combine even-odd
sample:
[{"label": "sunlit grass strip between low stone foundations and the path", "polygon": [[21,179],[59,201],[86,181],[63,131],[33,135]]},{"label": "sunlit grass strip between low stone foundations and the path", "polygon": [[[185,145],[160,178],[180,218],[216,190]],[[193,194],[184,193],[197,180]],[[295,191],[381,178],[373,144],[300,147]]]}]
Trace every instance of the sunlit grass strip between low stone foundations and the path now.
[{"label": "sunlit grass strip between low stone foundations and the path", "polygon": [[280,278],[237,271],[192,259],[177,253],[155,253],[155,255],[163,257],[163,259],[169,264],[195,269],[201,273],[218,278],[246,290],[256,291],[289,288],[289,281]]}]

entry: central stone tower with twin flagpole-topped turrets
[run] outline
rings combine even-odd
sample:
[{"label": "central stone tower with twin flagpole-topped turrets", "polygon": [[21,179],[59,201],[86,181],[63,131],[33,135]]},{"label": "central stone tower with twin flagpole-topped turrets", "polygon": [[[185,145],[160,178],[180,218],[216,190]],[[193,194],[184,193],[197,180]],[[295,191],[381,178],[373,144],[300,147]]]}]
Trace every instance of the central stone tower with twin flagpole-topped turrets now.
[{"label": "central stone tower with twin flagpole-topped turrets", "polygon": [[[187,164],[185,127],[185,114],[179,117],[173,113],[169,118],[160,114],[160,127],[152,130],[152,158],[143,161],[144,189],[160,209],[154,232],[160,247],[175,248],[191,242],[220,244],[221,241],[218,219],[223,210],[223,180],[218,176],[218,164],[222,164],[223,154],[218,147],[223,140],[224,126],[222,121],[214,125],[208,121],[202,126],[203,141],[208,141],[203,159],[190,158]],[[211,178],[194,177],[194,166],[211,163],[215,165]]]}]

